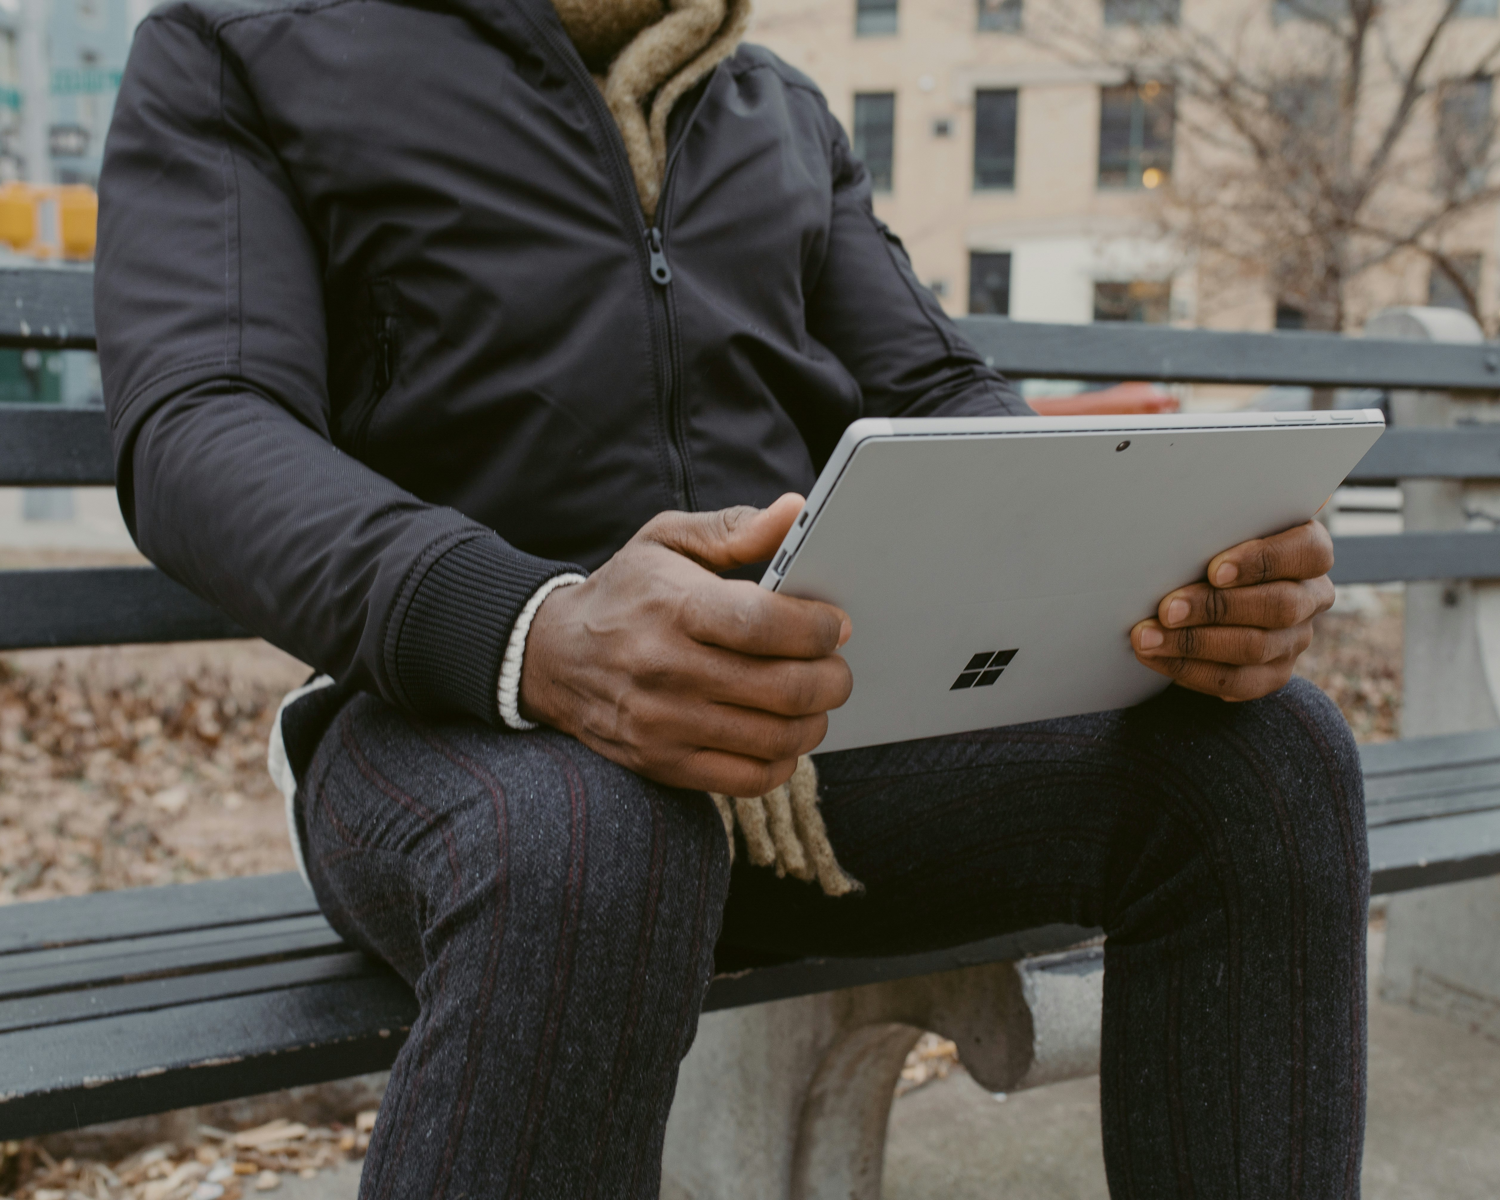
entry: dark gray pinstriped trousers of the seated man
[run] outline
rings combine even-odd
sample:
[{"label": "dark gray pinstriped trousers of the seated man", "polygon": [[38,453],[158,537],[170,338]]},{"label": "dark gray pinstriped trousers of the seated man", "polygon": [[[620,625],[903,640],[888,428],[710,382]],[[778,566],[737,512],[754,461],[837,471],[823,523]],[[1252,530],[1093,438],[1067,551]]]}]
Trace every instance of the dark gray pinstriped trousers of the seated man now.
[{"label": "dark gray pinstriped trousers of the seated man", "polygon": [[657,1196],[714,963],[1108,933],[1112,1196],[1354,1197],[1368,864],[1359,762],[1311,684],[819,758],[866,885],[736,858],[705,795],[550,730],[360,696],[298,796],[330,921],[416,988],[362,1200]]}]

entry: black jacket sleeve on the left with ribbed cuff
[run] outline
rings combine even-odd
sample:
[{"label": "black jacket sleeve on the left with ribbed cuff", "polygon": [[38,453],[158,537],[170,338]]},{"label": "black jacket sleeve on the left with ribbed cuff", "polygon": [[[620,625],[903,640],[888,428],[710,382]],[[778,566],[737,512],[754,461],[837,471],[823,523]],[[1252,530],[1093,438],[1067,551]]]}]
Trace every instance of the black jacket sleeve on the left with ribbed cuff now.
[{"label": "black jacket sleeve on the left with ribbed cuff", "polygon": [[99,363],[136,544],[344,684],[498,723],[516,615],[579,568],[333,446],[318,248],[204,18],[136,32],[99,190]]}]

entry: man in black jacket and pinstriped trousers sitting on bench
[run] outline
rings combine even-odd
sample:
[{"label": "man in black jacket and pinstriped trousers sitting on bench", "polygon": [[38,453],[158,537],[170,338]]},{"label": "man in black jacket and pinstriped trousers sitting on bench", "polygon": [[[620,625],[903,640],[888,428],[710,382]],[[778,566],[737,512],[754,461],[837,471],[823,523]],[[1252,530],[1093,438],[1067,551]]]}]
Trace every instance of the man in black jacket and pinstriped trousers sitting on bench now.
[{"label": "man in black jacket and pinstriped trousers sitting on bench", "polygon": [[[177,0],[135,36],[96,285],[120,501],[338,680],[286,711],[298,844],[420,1000],[362,1196],[656,1197],[716,944],[1048,922],[1108,934],[1114,1196],[1358,1194],[1360,774],[1292,678],[1317,525],[1132,632],[1178,682],[1150,704],[798,768],[860,630],[741,568],[852,418],[1028,410],[744,22]],[[730,864],[705,794],[794,770]]]}]

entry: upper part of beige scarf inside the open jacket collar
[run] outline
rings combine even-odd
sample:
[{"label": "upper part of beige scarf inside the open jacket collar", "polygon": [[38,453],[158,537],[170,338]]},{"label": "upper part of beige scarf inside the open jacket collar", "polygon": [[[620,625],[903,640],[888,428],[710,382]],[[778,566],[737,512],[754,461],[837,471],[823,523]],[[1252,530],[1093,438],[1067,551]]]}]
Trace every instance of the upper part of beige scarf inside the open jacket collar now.
[{"label": "upper part of beige scarf inside the open jacket collar", "polygon": [[640,212],[656,220],[672,106],[735,52],[750,0],[552,0],[604,92]]}]

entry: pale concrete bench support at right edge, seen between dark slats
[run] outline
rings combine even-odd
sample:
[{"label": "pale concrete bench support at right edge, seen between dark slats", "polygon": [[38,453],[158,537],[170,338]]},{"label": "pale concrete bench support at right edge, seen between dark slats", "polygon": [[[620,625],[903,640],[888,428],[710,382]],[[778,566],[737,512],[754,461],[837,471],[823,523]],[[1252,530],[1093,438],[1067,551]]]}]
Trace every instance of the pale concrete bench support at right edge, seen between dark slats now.
[{"label": "pale concrete bench support at right edge, seen between dark slats", "polygon": [[[1366,338],[1480,342],[1452,309],[1392,309]],[[1392,423],[1454,426],[1500,420],[1492,400],[1394,392]],[[1406,530],[1500,528],[1500,488],[1473,480],[1404,480]],[[1406,585],[1401,736],[1500,728],[1500,582]],[[1500,878],[1420,888],[1388,903],[1384,999],[1449,1017],[1500,1040]]]}]

